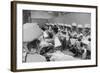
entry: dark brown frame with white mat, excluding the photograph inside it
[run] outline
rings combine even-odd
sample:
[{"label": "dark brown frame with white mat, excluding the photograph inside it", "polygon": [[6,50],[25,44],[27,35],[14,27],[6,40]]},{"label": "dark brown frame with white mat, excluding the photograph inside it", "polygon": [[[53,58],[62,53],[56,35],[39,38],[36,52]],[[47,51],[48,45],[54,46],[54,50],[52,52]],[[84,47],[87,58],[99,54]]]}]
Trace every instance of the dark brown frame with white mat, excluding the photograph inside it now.
[{"label": "dark brown frame with white mat, excluding the photograph inside it", "polygon": [[[66,12],[90,13],[91,23],[91,59],[82,61],[62,61],[62,62],[43,62],[43,63],[23,63],[22,62],[22,45],[23,45],[23,10],[35,11],[56,11],[56,14],[63,15]],[[37,70],[53,70],[53,69],[69,69],[69,68],[84,68],[96,67],[98,65],[98,31],[97,31],[97,6],[89,5],[74,5],[60,3],[42,3],[42,2],[26,2],[12,1],[11,2],[11,71],[37,71]],[[33,16],[34,18],[34,16]],[[25,19],[24,19],[25,20]],[[26,20],[27,21],[27,20]],[[41,20],[45,21],[45,20]],[[84,20],[83,20],[84,21]],[[32,20],[30,20],[32,22]],[[20,52],[20,53],[19,53]],[[69,63],[69,64],[68,64]]]}]

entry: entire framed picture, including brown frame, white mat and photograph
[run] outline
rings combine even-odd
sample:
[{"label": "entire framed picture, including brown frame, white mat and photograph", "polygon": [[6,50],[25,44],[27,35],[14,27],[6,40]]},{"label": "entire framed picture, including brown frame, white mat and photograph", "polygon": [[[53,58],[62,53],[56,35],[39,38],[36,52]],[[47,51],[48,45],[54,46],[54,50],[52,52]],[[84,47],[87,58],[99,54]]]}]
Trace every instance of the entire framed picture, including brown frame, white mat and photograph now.
[{"label": "entire framed picture, including brown frame, white mat and photograph", "polygon": [[12,2],[12,71],[97,66],[97,7]]}]

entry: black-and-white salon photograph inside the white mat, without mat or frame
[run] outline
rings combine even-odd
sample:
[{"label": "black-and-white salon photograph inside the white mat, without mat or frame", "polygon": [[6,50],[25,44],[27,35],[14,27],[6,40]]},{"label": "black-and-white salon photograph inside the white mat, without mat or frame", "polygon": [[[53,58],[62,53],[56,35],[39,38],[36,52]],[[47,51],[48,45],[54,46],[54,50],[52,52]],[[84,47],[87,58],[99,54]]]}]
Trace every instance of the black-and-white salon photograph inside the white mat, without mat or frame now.
[{"label": "black-and-white salon photograph inside the white mat, without mat or frame", "polygon": [[91,59],[91,14],[23,10],[23,62]]}]

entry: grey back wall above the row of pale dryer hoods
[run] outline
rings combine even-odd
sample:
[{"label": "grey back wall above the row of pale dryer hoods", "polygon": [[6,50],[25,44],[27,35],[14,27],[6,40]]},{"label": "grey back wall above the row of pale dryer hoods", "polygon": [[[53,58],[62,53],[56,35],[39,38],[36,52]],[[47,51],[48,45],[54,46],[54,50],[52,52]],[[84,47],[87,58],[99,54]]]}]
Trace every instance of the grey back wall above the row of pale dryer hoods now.
[{"label": "grey back wall above the row of pale dryer hoods", "polygon": [[73,22],[77,24],[91,24],[91,14],[89,13],[67,13],[58,17],[47,14],[45,12],[41,13],[31,13],[31,22],[37,22],[40,26],[43,26],[47,22],[51,23],[65,23],[72,24]]}]

